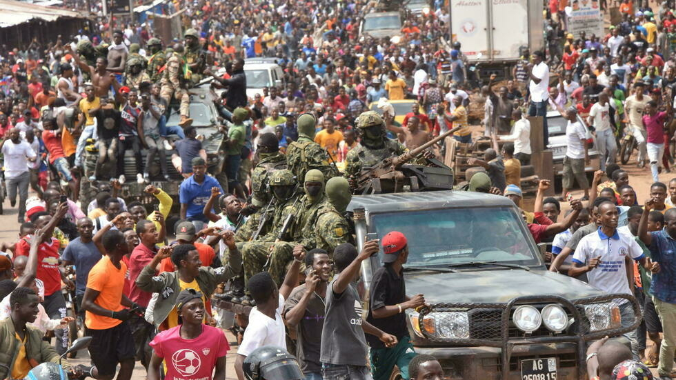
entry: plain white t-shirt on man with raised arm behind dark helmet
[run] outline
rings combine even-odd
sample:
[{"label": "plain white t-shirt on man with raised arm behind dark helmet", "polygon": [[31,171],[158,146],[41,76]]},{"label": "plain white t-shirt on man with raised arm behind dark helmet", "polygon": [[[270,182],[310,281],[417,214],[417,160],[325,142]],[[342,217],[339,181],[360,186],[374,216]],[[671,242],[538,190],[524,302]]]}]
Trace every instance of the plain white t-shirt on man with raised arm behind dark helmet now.
[{"label": "plain white t-shirt on man with raised arm behind dark helmet", "polygon": [[263,346],[277,346],[286,350],[286,330],[281,312],[284,310],[284,297],[279,294],[279,306],[275,310],[275,319],[252,308],[249,314],[249,325],[244,330],[238,354],[248,356],[253,350]]}]

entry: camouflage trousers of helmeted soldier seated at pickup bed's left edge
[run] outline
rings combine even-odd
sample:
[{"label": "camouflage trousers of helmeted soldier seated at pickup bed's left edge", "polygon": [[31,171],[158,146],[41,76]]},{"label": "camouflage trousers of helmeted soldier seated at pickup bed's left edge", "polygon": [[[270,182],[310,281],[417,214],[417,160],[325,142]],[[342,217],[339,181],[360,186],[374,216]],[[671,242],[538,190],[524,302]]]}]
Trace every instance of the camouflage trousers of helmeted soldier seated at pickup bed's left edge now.
[{"label": "camouflage trousers of helmeted soldier seated at pickup bed's left edge", "polygon": [[[272,248],[270,248],[272,247]],[[270,267],[268,272],[277,286],[284,282],[286,276],[286,264],[293,260],[293,244],[286,241],[275,242],[258,242],[252,241],[243,246],[242,259],[244,267],[244,280],[248,281],[251,276],[263,270],[266,261],[268,261],[268,253],[272,252],[270,256]]]}]

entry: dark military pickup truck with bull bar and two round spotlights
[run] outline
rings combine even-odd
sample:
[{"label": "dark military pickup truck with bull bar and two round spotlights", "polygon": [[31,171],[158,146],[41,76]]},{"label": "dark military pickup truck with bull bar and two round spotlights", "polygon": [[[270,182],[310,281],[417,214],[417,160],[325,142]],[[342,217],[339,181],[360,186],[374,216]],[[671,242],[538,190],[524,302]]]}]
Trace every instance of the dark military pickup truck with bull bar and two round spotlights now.
[{"label": "dark military pickup truck with bull bar and two round spotlights", "polygon": [[[621,334],[640,322],[633,297],[548,272],[506,197],[369,194],[353,197],[348,210],[359,249],[366,234],[408,238],[406,292],[430,303],[407,310],[409,334],[416,352],[437,357],[450,379],[582,379],[588,341],[608,335],[626,344]],[[362,264],[367,290],[382,255]],[[633,308],[633,326],[622,328],[621,307]]]}]

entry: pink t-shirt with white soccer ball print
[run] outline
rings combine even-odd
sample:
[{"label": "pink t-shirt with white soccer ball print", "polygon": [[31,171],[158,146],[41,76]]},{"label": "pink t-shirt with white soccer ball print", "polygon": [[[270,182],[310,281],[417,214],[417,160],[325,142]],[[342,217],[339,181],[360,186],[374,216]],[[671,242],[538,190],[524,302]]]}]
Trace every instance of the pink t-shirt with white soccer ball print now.
[{"label": "pink t-shirt with white soccer ball print", "polygon": [[230,350],[218,328],[202,325],[195,339],[181,338],[181,325],[160,332],[150,342],[167,366],[165,380],[212,380],[216,361]]}]

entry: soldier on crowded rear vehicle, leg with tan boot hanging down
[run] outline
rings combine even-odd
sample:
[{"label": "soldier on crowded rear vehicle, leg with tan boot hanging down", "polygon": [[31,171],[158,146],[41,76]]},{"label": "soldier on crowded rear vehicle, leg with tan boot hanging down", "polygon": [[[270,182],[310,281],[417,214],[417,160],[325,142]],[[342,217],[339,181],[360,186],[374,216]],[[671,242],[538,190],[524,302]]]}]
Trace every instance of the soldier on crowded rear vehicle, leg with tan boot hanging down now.
[{"label": "soldier on crowded rear vehicle, leg with tan boot hanging down", "polygon": [[190,94],[188,94],[187,83],[190,83],[190,70],[188,70],[186,61],[183,60],[183,45],[180,43],[174,45],[174,53],[167,61],[163,74],[159,97],[164,99],[167,104],[170,103],[172,95],[181,101],[179,126],[188,128],[192,124],[192,119],[188,119]]}]

